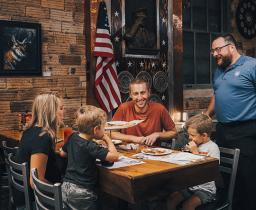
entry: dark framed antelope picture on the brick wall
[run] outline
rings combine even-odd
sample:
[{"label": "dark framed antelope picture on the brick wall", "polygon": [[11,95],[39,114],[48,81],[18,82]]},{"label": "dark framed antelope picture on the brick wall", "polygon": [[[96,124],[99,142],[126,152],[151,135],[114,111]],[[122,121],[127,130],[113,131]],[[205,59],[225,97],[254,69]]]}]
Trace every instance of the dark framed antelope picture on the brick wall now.
[{"label": "dark framed antelope picture on the brick wall", "polygon": [[42,74],[41,25],[0,20],[0,75]]}]

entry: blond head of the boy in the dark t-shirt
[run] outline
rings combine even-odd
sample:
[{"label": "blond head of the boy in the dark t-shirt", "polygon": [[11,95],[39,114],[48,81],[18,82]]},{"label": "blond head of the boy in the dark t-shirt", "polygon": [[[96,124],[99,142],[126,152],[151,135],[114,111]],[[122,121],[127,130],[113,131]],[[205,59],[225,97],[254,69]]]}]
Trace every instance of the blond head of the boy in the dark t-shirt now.
[{"label": "blond head of the boy in the dark t-shirt", "polygon": [[107,114],[102,109],[95,106],[82,106],[76,112],[76,125],[80,133],[93,134],[96,126],[105,124]]}]

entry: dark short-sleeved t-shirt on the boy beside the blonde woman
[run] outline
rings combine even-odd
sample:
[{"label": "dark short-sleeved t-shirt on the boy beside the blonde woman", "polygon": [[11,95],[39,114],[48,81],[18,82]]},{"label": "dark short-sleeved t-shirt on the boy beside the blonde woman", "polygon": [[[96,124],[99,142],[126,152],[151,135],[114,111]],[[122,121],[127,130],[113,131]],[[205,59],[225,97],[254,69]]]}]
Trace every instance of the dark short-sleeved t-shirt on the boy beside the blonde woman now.
[{"label": "dark short-sleeved t-shirt on the boy beside the blonde woman", "polygon": [[96,159],[105,160],[108,149],[73,133],[62,150],[68,157],[64,181],[94,190],[97,184]]}]

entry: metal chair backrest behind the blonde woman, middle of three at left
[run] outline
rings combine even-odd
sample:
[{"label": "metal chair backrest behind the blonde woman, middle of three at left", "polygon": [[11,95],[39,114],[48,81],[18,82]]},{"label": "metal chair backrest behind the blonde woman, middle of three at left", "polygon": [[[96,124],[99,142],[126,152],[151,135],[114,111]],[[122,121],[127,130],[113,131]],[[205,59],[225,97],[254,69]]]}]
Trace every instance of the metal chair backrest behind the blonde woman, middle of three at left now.
[{"label": "metal chair backrest behind the blonde woman, middle of three at left", "polygon": [[8,155],[10,180],[13,188],[24,193],[26,209],[32,209],[32,198],[29,187],[28,163],[16,163],[13,161],[13,154]]}]

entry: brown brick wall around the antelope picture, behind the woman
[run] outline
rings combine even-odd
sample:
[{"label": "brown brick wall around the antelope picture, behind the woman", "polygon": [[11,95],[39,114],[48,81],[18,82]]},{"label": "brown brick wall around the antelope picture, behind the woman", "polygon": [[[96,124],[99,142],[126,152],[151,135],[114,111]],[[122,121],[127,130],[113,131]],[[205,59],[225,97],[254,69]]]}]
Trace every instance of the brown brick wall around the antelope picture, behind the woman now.
[{"label": "brown brick wall around the antelope picture, behind the woman", "polygon": [[[18,114],[31,110],[34,97],[57,91],[64,97],[65,123],[86,103],[84,5],[82,0],[4,0],[0,19],[40,23],[42,70],[49,77],[0,77],[0,133],[18,130]],[[73,74],[70,70],[74,71]]]}]

